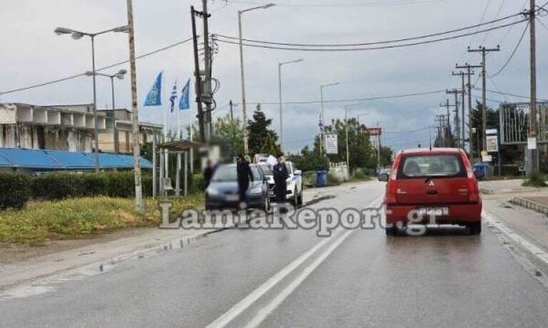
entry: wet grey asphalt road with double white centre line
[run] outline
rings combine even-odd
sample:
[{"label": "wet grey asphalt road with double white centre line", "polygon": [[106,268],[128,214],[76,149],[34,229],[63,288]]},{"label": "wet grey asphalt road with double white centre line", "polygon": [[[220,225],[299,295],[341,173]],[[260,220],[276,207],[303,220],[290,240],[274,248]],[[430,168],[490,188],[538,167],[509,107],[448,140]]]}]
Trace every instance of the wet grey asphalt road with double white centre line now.
[{"label": "wet grey asphalt road with double white centre line", "polygon": [[[367,207],[382,183],[320,209]],[[548,289],[499,237],[458,227],[225,230],[49,292],[0,297],[1,327],[546,327]]]}]

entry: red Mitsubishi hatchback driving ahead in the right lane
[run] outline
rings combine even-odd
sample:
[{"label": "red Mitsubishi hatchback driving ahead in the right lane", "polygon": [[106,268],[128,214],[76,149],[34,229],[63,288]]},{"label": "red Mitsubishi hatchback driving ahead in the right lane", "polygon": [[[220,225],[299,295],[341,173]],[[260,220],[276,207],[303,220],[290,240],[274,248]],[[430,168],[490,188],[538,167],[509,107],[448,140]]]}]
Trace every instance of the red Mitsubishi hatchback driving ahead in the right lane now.
[{"label": "red Mitsubishi hatchback driving ahead in the right lane", "polygon": [[482,198],[464,150],[402,150],[392,166],[385,194],[386,234],[411,224],[464,225],[482,232]]}]

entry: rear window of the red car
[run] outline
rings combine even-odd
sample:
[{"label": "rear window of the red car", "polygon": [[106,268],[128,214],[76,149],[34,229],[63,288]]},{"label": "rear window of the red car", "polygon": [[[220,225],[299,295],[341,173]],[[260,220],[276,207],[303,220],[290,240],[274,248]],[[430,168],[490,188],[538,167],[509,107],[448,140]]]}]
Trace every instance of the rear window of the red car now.
[{"label": "rear window of the red car", "polygon": [[397,170],[398,179],[447,177],[462,178],[466,170],[460,155],[407,155]]}]

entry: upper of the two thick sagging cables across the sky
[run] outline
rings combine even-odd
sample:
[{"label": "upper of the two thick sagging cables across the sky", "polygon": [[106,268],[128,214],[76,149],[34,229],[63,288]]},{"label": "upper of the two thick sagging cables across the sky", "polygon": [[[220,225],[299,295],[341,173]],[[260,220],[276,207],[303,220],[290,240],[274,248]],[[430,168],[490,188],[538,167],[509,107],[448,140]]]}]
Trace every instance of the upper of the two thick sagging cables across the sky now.
[{"label": "upper of the two thick sagging cables across the sky", "polygon": [[[505,21],[507,19],[511,19],[516,16],[520,16],[522,13],[519,14],[512,14],[506,17],[503,17],[501,19],[495,19],[494,21],[487,21],[485,23],[480,23],[472,26],[465,26],[460,29],[454,29],[450,31],[443,31],[439,33],[434,34],[427,34],[424,36],[412,36],[408,38],[403,39],[395,39],[395,40],[385,40],[385,41],[374,41],[374,42],[362,42],[362,43],[287,43],[287,42],[275,42],[275,41],[262,41],[262,40],[254,40],[254,39],[242,39],[244,42],[249,43],[260,43],[260,44],[268,44],[268,45],[275,45],[275,46],[291,46],[291,47],[355,47],[355,46],[375,46],[380,44],[387,44],[387,43],[400,43],[404,41],[414,41],[414,40],[420,40],[420,39],[429,39],[434,36],[442,36],[446,34],[454,34],[457,32],[466,31],[468,29],[475,29],[477,27],[485,26],[488,24],[494,24],[498,23],[499,21]],[[229,39],[234,41],[239,41],[239,38],[235,36],[225,36],[223,34],[215,34],[215,37],[220,37],[221,39]]]}]

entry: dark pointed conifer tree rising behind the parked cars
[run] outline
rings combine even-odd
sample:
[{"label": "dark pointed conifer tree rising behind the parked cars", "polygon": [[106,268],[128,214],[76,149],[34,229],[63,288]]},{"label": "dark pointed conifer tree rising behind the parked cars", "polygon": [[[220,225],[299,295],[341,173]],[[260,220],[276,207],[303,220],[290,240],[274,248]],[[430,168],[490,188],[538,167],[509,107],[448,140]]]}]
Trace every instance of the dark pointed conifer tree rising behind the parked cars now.
[{"label": "dark pointed conifer tree rising behind the parked cars", "polygon": [[[268,150],[280,151],[280,145],[278,144],[278,135],[274,130],[270,130],[272,125],[272,119],[266,118],[265,113],[260,110],[260,105],[253,113],[253,119],[248,121],[248,142],[250,154],[262,153],[265,149],[265,145],[268,143]],[[277,155],[277,153],[270,153]]]}]

